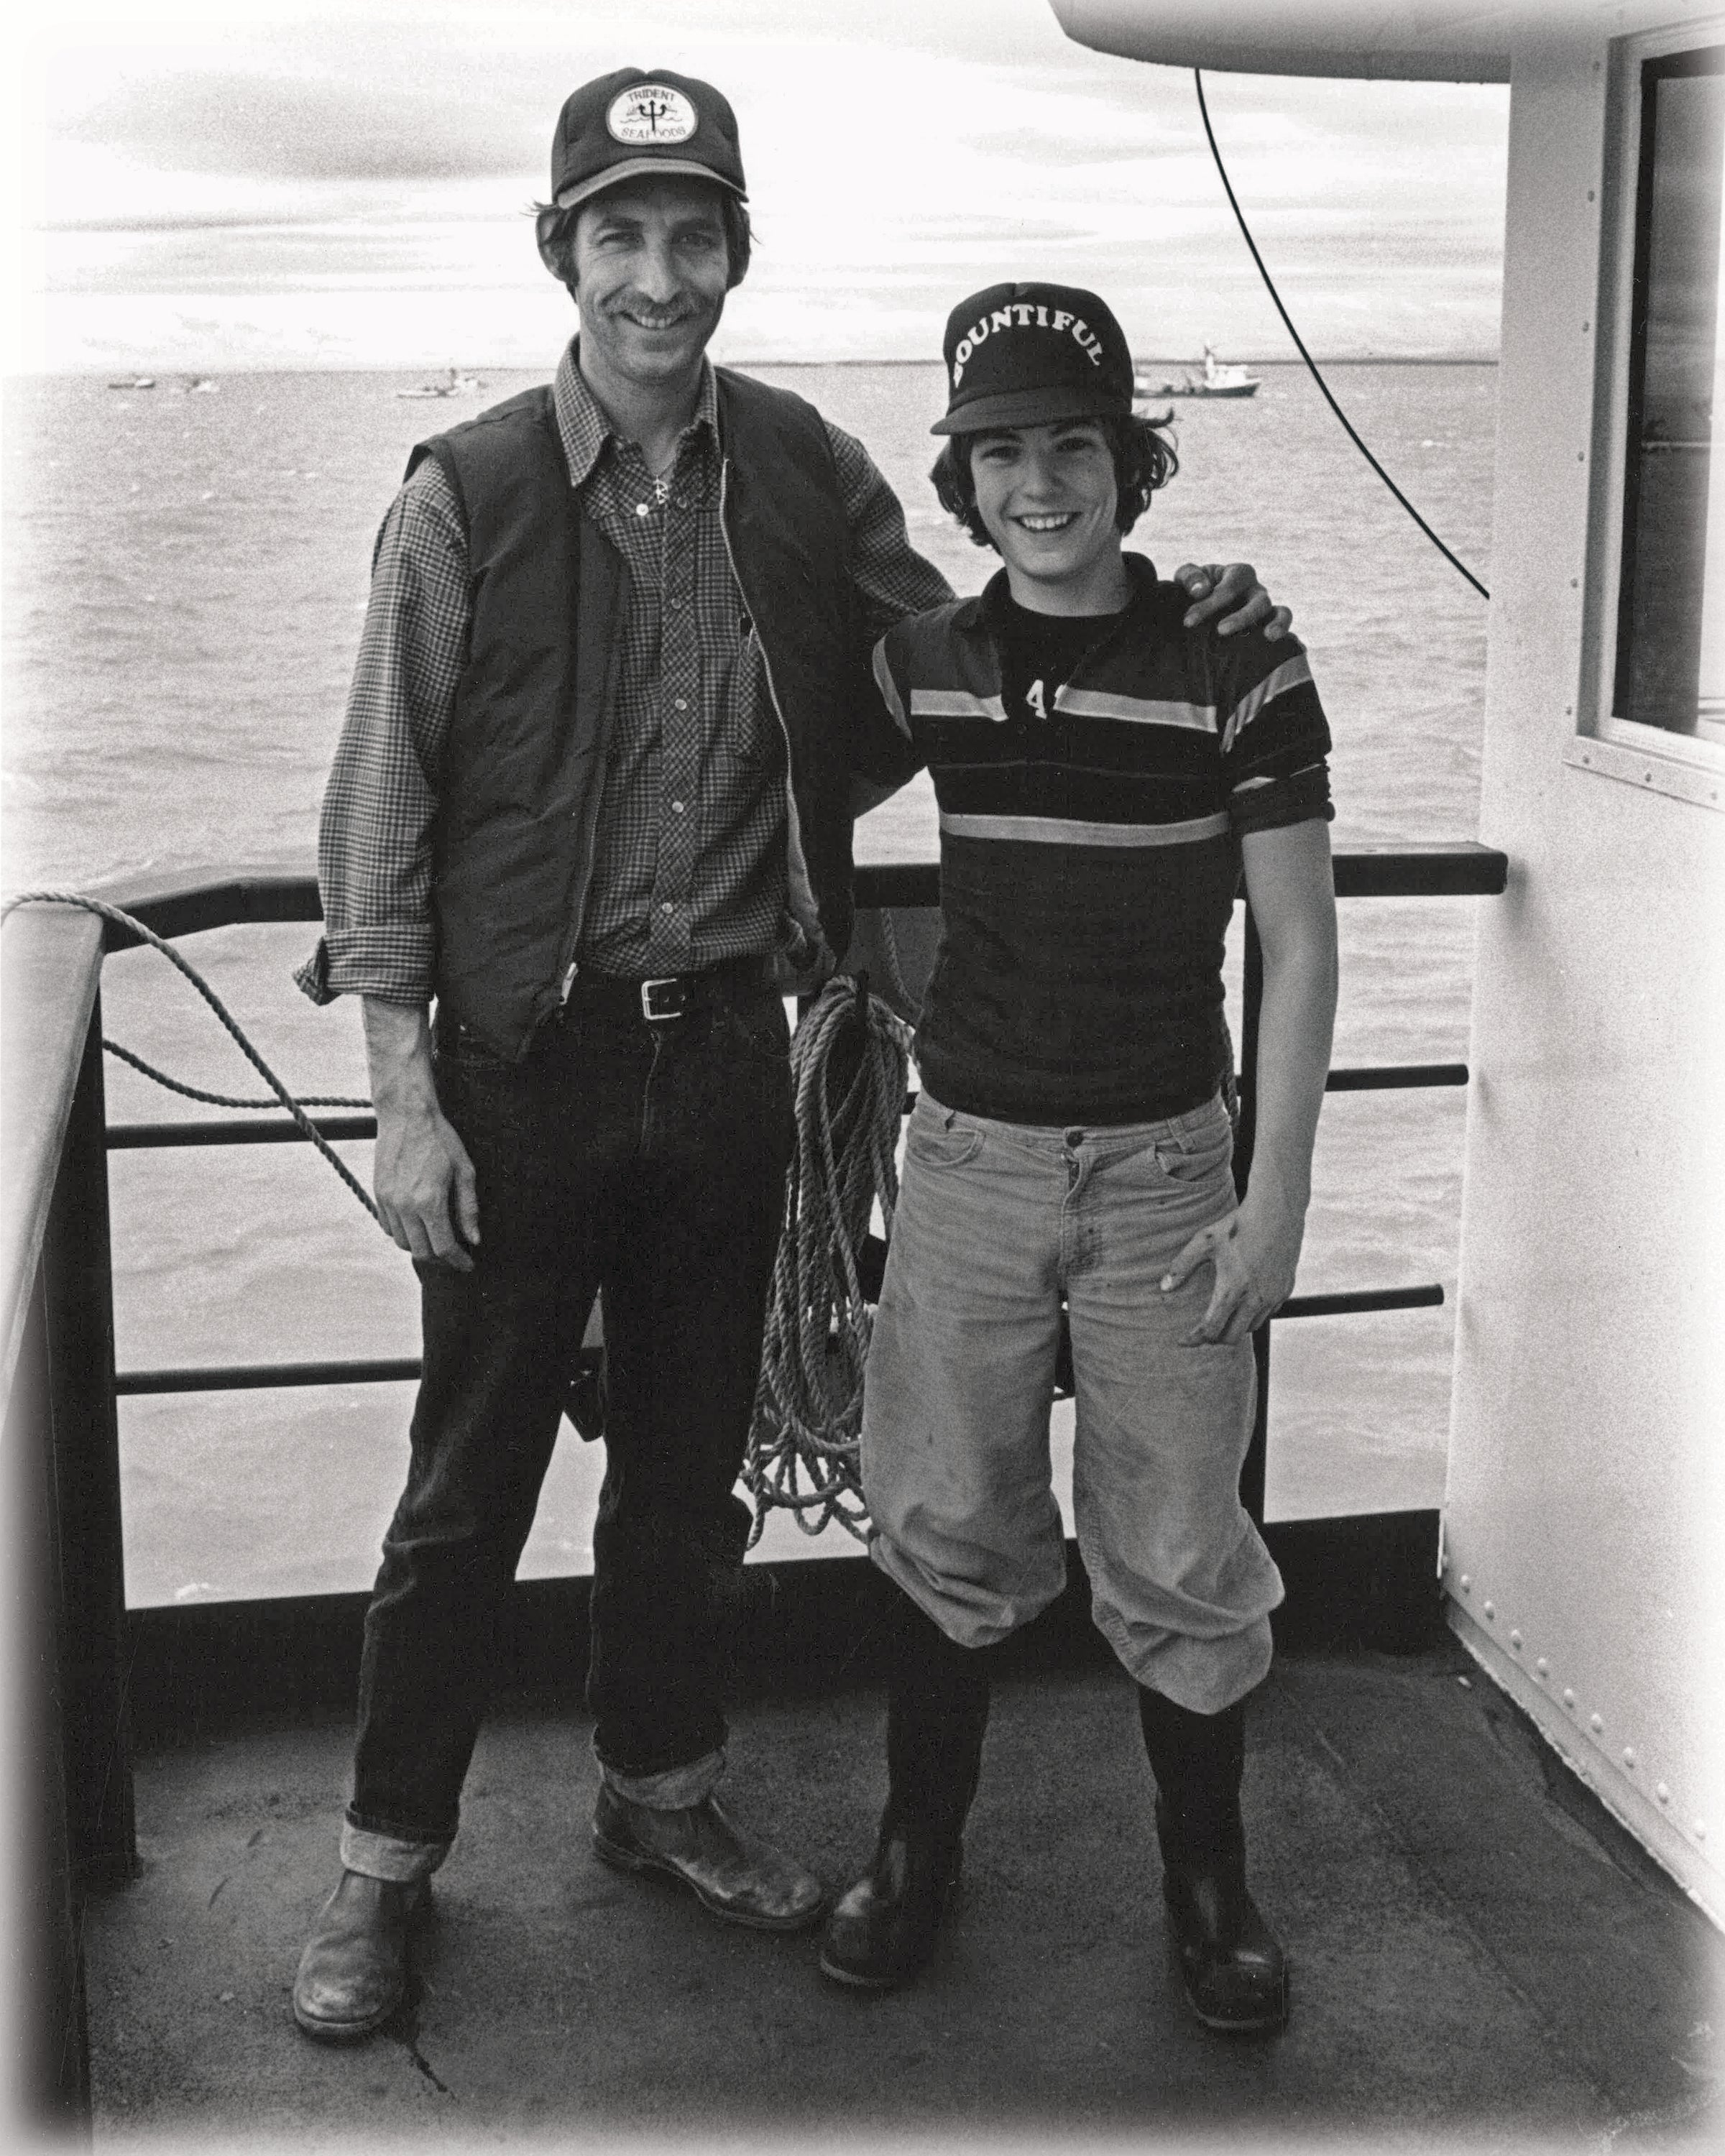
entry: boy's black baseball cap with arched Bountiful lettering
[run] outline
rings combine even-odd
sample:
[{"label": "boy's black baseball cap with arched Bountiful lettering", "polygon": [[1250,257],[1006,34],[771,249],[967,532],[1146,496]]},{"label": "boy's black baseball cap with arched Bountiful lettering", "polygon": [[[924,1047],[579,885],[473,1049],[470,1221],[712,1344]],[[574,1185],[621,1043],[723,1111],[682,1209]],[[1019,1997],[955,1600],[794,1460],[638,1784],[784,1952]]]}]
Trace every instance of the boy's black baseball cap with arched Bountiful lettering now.
[{"label": "boy's black baseball cap with arched Bountiful lettering", "polygon": [[1076,285],[990,285],[947,317],[947,416],[929,433],[1132,412],[1126,332]]}]

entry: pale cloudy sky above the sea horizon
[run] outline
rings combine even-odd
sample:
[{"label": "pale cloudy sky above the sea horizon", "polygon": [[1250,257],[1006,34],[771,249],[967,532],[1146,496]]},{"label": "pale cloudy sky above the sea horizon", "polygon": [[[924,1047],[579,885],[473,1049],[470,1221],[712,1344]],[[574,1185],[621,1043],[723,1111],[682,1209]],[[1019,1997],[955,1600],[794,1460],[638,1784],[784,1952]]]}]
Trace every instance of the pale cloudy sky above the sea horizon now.
[{"label": "pale cloudy sky above the sea horizon", "polygon": [[[625,65],[737,112],[718,358],[938,358],[1009,276],[1102,291],[1141,354],[1289,349],[1190,73],[1046,0],[65,0],[9,41],[6,371],[543,369],[571,310],[528,209],[563,97]],[[1496,349],[1505,88],[1205,86],[1313,349]]]}]

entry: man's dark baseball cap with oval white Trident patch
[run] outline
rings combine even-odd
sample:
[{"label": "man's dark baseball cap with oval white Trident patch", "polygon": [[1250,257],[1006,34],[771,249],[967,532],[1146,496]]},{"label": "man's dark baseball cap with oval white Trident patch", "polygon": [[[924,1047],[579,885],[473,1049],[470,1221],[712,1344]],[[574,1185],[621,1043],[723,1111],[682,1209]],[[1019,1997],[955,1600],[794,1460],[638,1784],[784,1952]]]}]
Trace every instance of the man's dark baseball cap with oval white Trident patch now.
[{"label": "man's dark baseball cap with oval white Trident patch", "polygon": [[746,196],[737,116],[712,82],[664,67],[619,67],[582,82],[552,136],[552,203],[574,209],[643,172],[716,179]]}]

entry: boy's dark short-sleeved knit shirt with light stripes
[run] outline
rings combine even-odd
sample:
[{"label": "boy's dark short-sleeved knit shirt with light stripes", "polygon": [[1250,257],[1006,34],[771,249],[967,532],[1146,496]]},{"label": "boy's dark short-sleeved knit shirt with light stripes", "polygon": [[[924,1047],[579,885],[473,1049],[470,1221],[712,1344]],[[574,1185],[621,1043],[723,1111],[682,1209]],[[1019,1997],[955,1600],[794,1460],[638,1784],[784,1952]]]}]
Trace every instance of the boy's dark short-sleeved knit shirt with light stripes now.
[{"label": "boy's dark short-sleeved knit shirt with light stripes", "polygon": [[[942,934],[916,1033],[929,1091],[1011,1123],[1138,1123],[1218,1087],[1240,841],[1330,817],[1330,733],[1302,645],[1182,627],[1132,599],[1067,679],[1003,690],[1005,571],[903,621],[875,679],[940,804]],[[1039,707],[1039,709],[1037,709]]]}]

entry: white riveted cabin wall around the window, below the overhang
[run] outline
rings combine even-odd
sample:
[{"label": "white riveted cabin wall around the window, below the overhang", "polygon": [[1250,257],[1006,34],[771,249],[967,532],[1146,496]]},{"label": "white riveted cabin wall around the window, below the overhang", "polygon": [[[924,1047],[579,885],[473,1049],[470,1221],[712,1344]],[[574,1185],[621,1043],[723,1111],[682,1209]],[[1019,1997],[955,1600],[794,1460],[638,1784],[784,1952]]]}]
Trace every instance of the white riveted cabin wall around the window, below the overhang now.
[{"label": "white riveted cabin wall around the window, below the overhang", "polygon": [[1445,1591],[1725,1921],[1725,813],[1563,761],[1606,58],[1514,69],[1479,830],[1509,890],[1479,906]]}]

